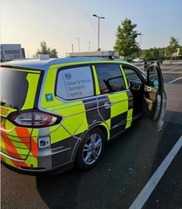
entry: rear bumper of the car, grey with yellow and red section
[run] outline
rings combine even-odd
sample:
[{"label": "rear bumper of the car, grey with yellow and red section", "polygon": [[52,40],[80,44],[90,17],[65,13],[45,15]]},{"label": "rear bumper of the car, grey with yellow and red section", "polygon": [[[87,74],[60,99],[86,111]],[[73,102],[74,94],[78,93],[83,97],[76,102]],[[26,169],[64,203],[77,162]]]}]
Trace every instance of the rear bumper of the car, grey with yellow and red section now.
[{"label": "rear bumper of the car, grey with yellow and red section", "polygon": [[1,161],[21,173],[33,175],[59,173],[73,167],[78,144],[78,139],[65,139],[49,148],[38,150],[36,157],[28,155],[24,160],[10,157],[1,152]]}]

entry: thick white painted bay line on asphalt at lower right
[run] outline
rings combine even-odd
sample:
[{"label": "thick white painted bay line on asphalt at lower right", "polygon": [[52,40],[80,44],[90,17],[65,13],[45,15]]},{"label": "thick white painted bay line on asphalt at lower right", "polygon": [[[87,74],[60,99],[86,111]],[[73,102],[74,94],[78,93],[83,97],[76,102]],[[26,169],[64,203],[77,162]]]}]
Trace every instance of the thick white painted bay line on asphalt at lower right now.
[{"label": "thick white painted bay line on asphalt at lower right", "polygon": [[174,147],[171,149],[169,154],[166,156],[166,158],[163,160],[163,162],[160,164],[160,166],[157,168],[155,173],[152,175],[150,180],[147,182],[147,184],[144,186],[140,194],[136,197],[132,205],[129,209],[141,209],[145,202],[150,197],[151,193],[159,183],[160,179],[164,175],[165,171],[171,164],[172,160],[182,147],[182,136],[179,138],[179,140],[176,142]]}]

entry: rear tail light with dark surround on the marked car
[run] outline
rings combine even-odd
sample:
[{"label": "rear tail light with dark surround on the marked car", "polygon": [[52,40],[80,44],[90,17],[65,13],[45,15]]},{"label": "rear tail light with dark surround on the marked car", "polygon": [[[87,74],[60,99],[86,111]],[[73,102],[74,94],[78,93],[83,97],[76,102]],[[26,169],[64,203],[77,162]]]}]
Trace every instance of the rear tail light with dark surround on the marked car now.
[{"label": "rear tail light with dark surround on the marked car", "polygon": [[10,121],[19,126],[36,128],[57,124],[61,121],[61,117],[41,111],[27,111],[13,114]]}]

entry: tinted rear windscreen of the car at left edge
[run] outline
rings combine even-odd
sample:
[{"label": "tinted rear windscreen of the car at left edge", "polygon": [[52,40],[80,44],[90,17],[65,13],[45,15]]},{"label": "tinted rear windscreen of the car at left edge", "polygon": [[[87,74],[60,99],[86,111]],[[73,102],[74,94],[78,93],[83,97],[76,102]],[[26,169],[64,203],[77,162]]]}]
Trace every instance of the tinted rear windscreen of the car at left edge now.
[{"label": "tinted rear windscreen of the car at left edge", "polygon": [[28,91],[27,73],[1,68],[1,105],[21,109]]}]

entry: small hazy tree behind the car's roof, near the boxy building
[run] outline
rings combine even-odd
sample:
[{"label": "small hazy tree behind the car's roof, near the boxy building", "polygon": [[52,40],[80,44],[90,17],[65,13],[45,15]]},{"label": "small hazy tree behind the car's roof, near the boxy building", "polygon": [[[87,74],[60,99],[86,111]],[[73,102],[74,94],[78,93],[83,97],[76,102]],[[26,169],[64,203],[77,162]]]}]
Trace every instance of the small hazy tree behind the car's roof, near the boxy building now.
[{"label": "small hazy tree behind the car's roof, near the boxy building", "polygon": [[35,57],[38,57],[39,54],[49,54],[50,58],[58,57],[56,49],[48,47],[45,41],[40,43],[40,49],[37,49]]}]

